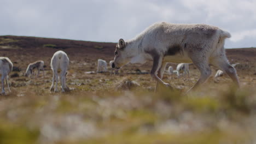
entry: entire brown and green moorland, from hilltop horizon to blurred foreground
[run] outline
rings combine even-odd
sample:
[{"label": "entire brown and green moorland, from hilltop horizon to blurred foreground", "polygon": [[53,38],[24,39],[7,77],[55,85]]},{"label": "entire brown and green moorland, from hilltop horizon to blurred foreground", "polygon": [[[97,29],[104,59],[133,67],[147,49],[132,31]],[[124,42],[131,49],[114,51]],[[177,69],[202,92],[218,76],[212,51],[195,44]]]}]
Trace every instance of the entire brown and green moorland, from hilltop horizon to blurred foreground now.
[{"label": "entire brown and green moorland, from hilltop horizon to blurred foreground", "polygon": [[[164,74],[174,91],[154,92],[152,77],[138,72],[149,72],[152,62],[125,65],[118,75],[109,74],[109,66],[106,73],[86,73],[96,71],[98,58],[113,59],[114,49],[114,43],[0,36],[0,56],[15,67],[11,92],[5,85],[7,94],[0,94],[0,143],[256,142],[255,48],[226,50],[230,63],[240,63],[241,88],[225,75],[213,79],[212,69],[212,77],[191,93],[185,92],[200,77],[193,64],[190,76]],[[57,50],[70,59],[68,92],[49,91],[50,59]],[[39,59],[45,75],[25,77],[27,65]]]}]

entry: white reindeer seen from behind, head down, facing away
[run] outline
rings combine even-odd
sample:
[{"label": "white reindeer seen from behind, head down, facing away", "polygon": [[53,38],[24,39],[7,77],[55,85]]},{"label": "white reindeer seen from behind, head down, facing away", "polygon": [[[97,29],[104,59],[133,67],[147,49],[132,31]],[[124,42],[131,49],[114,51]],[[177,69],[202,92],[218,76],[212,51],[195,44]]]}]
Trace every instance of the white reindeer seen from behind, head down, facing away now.
[{"label": "white reindeer seen from behind, head down, facing away", "polygon": [[[53,83],[51,84],[50,91],[58,92],[58,70],[60,69],[60,79],[61,79],[61,91],[65,92],[68,91],[66,86],[66,75],[69,65],[69,59],[65,52],[57,51],[54,53],[53,58],[51,58],[51,69],[53,69]],[[54,80],[55,80],[55,88],[54,87]]]}]

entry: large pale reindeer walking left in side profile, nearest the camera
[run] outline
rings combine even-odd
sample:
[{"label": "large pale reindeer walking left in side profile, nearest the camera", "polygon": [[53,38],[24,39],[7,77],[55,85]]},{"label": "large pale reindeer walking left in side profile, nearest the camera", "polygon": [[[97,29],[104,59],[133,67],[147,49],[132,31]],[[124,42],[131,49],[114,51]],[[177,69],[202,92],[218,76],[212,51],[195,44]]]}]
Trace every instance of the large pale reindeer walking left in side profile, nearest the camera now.
[{"label": "large pale reindeer walking left in side profile, nearest the camera", "polygon": [[196,89],[211,75],[209,64],[225,71],[239,86],[236,70],[226,58],[224,42],[229,32],[203,24],[155,23],[132,40],[119,40],[115,49],[113,68],[126,63],[153,61],[150,75],[158,83],[162,81],[167,62],[194,63],[200,70],[200,79],[189,89]]}]

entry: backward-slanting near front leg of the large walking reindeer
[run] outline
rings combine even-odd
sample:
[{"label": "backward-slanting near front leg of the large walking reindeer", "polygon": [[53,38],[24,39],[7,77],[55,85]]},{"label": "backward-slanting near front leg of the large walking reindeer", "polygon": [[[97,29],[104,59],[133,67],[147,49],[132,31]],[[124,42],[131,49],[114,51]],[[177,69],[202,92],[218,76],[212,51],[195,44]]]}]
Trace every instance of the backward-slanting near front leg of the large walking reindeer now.
[{"label": "backward-slanting near front leg of the large walking reindeer", "polygon": [[160,83],[161,85],[164,85],[167,87],[171,87],[169,83],[162,81],[160,79],[160,77],[158,76],[158,70],[160,69],[161,65],[162,65],[162,57],[160,57],[160,56],[153,57],[153,67],[150,71],[150,75],[157,83]]}]

